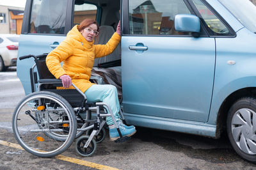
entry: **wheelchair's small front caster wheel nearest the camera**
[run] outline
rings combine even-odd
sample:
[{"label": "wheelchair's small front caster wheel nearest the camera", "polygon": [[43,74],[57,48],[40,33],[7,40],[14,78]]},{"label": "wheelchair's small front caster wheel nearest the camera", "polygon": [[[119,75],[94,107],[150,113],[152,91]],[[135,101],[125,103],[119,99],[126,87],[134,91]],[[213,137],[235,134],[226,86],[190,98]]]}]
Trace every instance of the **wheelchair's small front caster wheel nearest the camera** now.
[{"label": "wheelchair's small front caster wheel nearest the camera", "polygon": [[95,139],[92,139],[87,148],[84,148],[84,145],[88,141],[88,135],[82,135],[78,139],[76,139],[76,153],[83,157],[90,157],[95,152],[97,148],[97,144]]}]

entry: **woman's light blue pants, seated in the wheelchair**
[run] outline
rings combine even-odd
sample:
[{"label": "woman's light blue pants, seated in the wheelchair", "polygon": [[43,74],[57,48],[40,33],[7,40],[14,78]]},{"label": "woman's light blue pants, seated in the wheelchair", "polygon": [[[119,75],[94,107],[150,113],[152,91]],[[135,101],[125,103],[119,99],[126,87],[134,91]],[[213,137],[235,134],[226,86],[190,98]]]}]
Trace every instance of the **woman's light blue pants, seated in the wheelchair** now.
[{"label": "woman's light blue pants, seated in the wheelchair", "polygon": [[[110,84],[94,84],[88,88],[84,94],[87,97],[88,102],[104,102],[111,108],[115,119],[119,119],[119,109],[120,104],[118,101],[118,95],[116,87]],[[113,119],[111,116],[106,117],[106,122],[108,125],[113,125]]]}]

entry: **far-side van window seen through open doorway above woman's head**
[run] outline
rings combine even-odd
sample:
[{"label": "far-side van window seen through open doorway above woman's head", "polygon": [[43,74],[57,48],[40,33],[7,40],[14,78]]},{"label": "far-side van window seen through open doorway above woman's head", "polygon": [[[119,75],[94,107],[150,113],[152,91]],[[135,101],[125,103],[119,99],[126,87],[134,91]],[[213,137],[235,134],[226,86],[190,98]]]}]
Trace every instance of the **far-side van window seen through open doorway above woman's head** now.
[{"label": "far-side van window seen through open doorway above woman's head", "polygon": [[94,4],[81,3],[76,1],[74,6],[73,25],[80,24],[84,19],[96,20],[97,6]]}]

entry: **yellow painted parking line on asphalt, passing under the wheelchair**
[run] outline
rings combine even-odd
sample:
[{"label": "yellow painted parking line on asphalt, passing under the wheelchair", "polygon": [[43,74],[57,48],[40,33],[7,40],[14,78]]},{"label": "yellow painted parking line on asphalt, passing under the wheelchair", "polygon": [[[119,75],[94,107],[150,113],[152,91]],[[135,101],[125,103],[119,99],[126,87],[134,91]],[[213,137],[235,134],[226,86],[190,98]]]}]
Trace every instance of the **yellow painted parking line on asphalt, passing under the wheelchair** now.
[{"label": "yellow painted parking line on asphalt, passing under the wheelchair", "polygon": [[[9,147],[12,147],[12,148],[17,148],[19,150],[24,150],[19,144],[8,143],[8,142],[2,141],[2,140],[0,140],[0,144],[3,144],[4,146],[9,146]],[[72,157],[66,157],[66,156],[63,156],[63,155],[58,155],[55,158],[58,158],[60,160],[65,160],[67,162],[72,162],[74,164],[79,164],[81,166],[93,167],[95,169],[109,169],[109,170],[116,169],[115,167],[102,166],[100,164],[95,164],[93,162],[89,162],[89,161],[86,161],[86,160],[81,160],[81,159],[72,158]]]}]

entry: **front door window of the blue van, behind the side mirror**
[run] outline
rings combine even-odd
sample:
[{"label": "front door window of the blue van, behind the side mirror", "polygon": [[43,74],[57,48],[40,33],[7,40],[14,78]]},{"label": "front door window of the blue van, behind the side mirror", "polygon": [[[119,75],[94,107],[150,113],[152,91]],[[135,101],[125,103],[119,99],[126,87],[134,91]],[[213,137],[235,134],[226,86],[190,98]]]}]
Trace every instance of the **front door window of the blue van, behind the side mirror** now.
[{"label": "front door window of the blue van, behind the side mirror", "polygon": [[174,30],[177,14],[191,14],[182,0],[129,0],[131,35],[188,35]]}]

